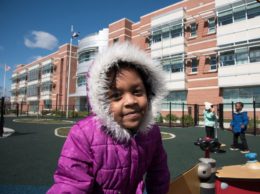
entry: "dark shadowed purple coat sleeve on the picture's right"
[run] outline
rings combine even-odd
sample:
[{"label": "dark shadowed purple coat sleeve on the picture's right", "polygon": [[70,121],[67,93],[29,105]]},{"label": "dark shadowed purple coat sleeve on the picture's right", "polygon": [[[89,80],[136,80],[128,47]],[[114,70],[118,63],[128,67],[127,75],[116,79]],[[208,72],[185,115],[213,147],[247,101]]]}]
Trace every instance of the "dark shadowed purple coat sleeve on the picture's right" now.
[{"label": "dark shadowed purple coat sleeve on the picture's right", "polygon": [[146,190],[148,194],[166,194],[169,190],[170,172],[159,127],[156,127],[154,136],[157,139],[157,143],[155,143],[157,148],[154,152],[152,163],[147,170]]}]

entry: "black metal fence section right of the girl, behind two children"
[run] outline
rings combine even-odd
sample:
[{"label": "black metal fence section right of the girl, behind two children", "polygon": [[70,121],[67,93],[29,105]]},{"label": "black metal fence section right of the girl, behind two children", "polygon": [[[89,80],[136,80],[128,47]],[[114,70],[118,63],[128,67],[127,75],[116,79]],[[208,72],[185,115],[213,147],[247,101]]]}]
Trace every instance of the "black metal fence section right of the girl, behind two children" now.
[{"label": "black metal fence section right of the girl, behind two children", "polygon": [[[235,102],[214,104],[218,115],[218,127],[229,129]],[[205,106],[201,104],[162,103],[162,109],[157,116],[157,123],[169,127],[203,126]],[[260,134],[260,102],[244,103],[243,111],[248,112],[249,125],[247,133]]]}]

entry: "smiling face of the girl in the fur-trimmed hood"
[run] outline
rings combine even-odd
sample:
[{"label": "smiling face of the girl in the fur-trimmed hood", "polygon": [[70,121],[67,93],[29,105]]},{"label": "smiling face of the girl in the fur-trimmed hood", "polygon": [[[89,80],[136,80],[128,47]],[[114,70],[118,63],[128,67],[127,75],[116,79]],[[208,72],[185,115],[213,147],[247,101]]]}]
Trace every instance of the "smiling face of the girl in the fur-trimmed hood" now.
[{"label": "smiling face of the girl in the fur-trimmed hood", "polygon": [[[112,77],[109,79],[112,80]],[[114,79],[114,84],[108,92],[110,113],[121,127],[137,130],[148,107],[143,80],[140,74],[130,67],[119,69]]]}]

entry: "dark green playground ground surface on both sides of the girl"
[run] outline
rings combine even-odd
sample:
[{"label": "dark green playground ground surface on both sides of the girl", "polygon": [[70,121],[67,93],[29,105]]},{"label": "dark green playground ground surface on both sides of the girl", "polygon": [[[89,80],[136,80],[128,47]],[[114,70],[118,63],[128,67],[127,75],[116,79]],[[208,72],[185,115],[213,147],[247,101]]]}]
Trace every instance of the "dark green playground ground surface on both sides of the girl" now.
[{"label": "dark green playground ground surface on both sides of the girl", "polygon": [[[53,183],[53,173],[57,165],[64,137],[55,135],[55,129],[63,128],[62,135],[68,131],[67,123],[22,123],[5,119],[5,127],[15,130],[8,138],[0,139],[0,193],[32,194],[45,193]],[[200,127],[167,128],[161,127],[164,148],[168,154],[171,179],[175,179],[204,156],[194,142],[203,137],[205,131]],[[174,137],[175,136],[175,137]],[[225,153],[212,153],[217,167],[243,164],[246,159],[239,151],[230,151],[232,133],[218,130],[221,143],[226,144]],[[249,148],[258,154],[260,160],[260,136],[247,135]]]}]

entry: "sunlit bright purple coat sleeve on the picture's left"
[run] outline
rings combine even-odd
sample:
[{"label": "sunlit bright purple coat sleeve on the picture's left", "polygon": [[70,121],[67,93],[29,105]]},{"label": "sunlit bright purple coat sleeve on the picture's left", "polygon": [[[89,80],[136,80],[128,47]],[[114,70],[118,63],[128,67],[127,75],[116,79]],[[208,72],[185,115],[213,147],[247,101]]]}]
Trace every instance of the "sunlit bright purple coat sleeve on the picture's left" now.
[{"label": "sunlit bright purple coat sleeve on the picture's left", "polygon": [[93,162],[90,145],[79,125],[74,125],[63,146],[54,185],[47,194],[92,193]]}]

